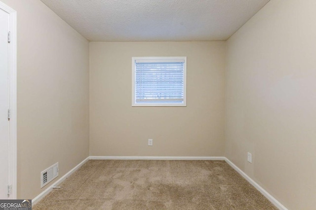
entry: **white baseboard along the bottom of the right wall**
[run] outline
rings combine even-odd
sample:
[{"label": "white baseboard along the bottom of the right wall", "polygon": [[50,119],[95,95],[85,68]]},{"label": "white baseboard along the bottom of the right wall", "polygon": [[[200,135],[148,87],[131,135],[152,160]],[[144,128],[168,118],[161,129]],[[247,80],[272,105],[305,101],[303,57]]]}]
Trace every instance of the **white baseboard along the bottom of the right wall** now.
[{"label": "white baseboard along the bottom of the right wall", "polygon": [[248,175],[246,175],[241,169],[239,169],[232,161],[225,157],[225,161],[235,169],[243,178],[245,178],[250,184],[252,184],[261,194],[263,194],[271,203],[273,203],[279,210],[287,210],[280,202],[278,202],[270,193],[268,193],[264,188],[262,188],[257,182],[252,180]]}]

